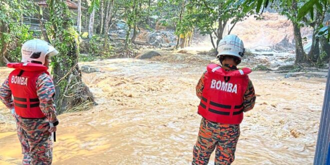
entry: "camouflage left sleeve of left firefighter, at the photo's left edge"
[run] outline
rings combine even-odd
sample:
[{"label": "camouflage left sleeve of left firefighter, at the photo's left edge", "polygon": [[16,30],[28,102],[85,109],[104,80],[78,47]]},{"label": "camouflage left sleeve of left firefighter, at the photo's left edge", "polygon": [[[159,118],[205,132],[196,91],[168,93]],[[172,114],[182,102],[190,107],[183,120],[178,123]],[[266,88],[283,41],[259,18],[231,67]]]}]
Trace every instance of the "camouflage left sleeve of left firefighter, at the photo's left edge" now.
[{"label": "camouflage left sleeve of left firefighter, at the photo's left edge", "polygon": [[14,102],[11,97],[11,90],[9,88],[8,78],[6,78],[0,86],[0,100],[7,108],[14,108]]}]

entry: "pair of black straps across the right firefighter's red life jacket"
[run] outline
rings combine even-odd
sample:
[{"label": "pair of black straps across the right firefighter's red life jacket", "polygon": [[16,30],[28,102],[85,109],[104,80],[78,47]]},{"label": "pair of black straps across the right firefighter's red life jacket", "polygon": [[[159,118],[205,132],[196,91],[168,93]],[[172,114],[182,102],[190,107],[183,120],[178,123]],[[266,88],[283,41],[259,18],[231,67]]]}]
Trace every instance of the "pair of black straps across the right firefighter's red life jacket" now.
[{"label": "pair of black straps across the right firefighter's red life jacket", "polygon": [[[202,99],[203,101],[207,102],[207,99],[206,99],[205,97],[201,97],[201,99]],[[213,105],[213,106],[215,106],[215,107],[218,107],[218,108],[231,109],[231,105],[224,105],[224,104],[216,103],[216,102],[213,102],[213,101],[209,101],[209,104],[210,104],[210,105]],[[202,108],[206,109],[206,105],[203,104],[201,101],[200,101],[199,105],[200,105]],[[242,108],[242,107],[243,107],[243,103],[240,104],[240,105],[235,105],[235,106],[234,106],[234,109],[240,109],[240,108]],[[210,107],[208,107],[207,110],[210,111],[210,112],[216,113],[216,114],[230,115],[230,112],[228,112],[228,111],[215,110],[215,109],[212,109],[212,108],[210,108]],[[243,109],[241,109],[241,110],[239,110],[239,111],[234,111],[232,114],[233,114],[233,115],[236,115],[236,114],[240,114],[240,113],[242,113],[242,112],[243,112]]]}]

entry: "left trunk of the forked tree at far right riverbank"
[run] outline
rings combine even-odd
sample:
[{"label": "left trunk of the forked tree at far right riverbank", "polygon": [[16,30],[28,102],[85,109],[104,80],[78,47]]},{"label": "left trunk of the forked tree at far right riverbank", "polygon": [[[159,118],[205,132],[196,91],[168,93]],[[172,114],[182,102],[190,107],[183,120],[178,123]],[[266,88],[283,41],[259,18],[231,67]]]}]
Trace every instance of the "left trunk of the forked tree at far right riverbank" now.
[{"label": "left trunk of the forked tree at far right riverbank", "polygon": [[300,27],[297,23],[293,22],[293,35],[295,41],[295,63],[306,63],[306,54],[303,51],[302,38],[300,33]]}]

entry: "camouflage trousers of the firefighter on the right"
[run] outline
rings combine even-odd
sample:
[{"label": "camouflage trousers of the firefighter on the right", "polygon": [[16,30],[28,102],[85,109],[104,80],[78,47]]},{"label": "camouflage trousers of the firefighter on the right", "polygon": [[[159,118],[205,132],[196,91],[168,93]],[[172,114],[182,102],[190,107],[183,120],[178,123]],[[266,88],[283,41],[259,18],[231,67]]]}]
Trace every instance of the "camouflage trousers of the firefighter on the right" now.
[{"label": "camouflage trousers of the firefighter on the right", "polygon": [[192,164],[207,164],[215,148],[214,164],[231,164],[239,133],[239,124],[221,124],[202,118]]}]

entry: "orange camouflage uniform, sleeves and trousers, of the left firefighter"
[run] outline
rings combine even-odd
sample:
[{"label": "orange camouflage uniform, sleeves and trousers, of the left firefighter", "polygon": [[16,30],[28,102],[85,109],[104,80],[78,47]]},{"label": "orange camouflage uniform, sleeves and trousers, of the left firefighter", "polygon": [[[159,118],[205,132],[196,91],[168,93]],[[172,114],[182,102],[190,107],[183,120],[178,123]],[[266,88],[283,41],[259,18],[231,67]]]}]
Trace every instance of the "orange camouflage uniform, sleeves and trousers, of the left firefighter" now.
[{"label": "orange camouflage uniform, sleeves and trousers, of the left firefighter", "polygon": [[[49,122],[58,122],[56,118],[53,95],[55,87],[51,77],[42,73],[36,82],[36,92],[40,101],[40,109],[45,118],[23,118],[12,112],[15,117],[17,135],[21,144],[23,159],[22,164],[51,164],[52,162],[52,139],[48,131]],[[8,78],[0,86],[0,100],[9,109],[14,109],[14,101]]]}]

